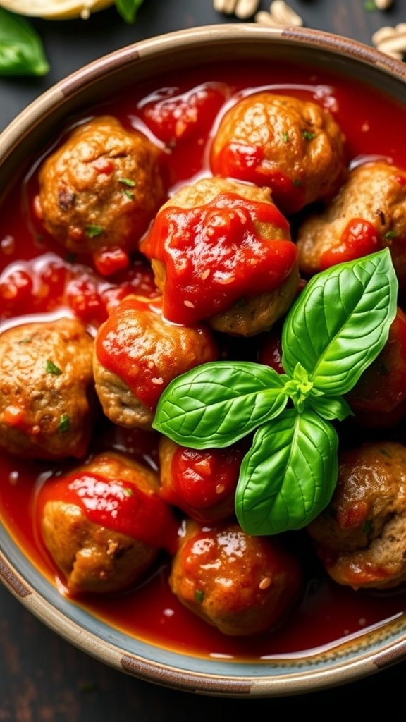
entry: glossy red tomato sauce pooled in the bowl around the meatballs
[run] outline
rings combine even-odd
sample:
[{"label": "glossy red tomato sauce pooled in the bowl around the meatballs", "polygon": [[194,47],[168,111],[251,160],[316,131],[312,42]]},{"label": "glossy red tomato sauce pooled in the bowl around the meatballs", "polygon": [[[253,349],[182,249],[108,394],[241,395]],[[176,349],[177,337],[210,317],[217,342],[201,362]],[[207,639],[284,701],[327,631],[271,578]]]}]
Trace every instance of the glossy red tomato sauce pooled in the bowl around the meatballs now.
[{"label": "glossy red tomato sauce pooled in the bowl around the meatballs", "polygon": [[[112,113],[125,126],[141,129],[149,126],[151,132],[165,141],[170,137],[168,175],[171,186],[176,188],[184,181],[208,174],[207,133],[223,101],[226,103],[236,92],[246,94],[264,87],[273,90],[274,85],[278,92],[317,100],[331,108],[347,136],[351,159],[382,155],[406,168],[403,142],[406,109],[348,79],[288,64],[269,67],[246,64],[238,73],[235,66],[206,67],[189,76],[183,74],[175,88],[173,79],[161,77],[155,87],[150,85],[127,93],[125,99],[112,100],[97,112]],[[190,91],[194,100],[189,105]],[[170,99],[168,103],[161,103],[165,98]],[[161,105],[157,105],[157,100]],[[129,292],[155,295],[152,274],[141,258],[135,259],[131,269],[106,281],[88,259],[81,258],[78,264],[77,258],[67,256],[35,225],[30,212],[35,191],[33,170],[22,185],[22,193],[14,188],[0,213],[0,318],[4,326],[24,314],[61,313],[66,308],[86,323],[98,326],[118,299]],[[108,424],[99,431],[93,445],[96,450],[119,449],[156,464],[154,435],[129,433]],[[90,451],[93,450],[92,447]],[[35,499],[43,481],[51,473],[62,471],[66,471],[64,464],[50,468],[49,464],[30,463],[6,454],[1,457],[1,519],[17,544],[51,582],[58,575],[38,538]],[[303,563],[306,576],[303,596],[286,625],[259,638],[227,638],[186,612],[168,588],[165,553],[148,583],[139,588],[74,603],[152,643],[202,656],[250,659],[334,645],[337,640],[404,611],[405,588],[386,592],[340,588],[327,580],[311,553],[305,533],[291,534],[288,540]]]}]

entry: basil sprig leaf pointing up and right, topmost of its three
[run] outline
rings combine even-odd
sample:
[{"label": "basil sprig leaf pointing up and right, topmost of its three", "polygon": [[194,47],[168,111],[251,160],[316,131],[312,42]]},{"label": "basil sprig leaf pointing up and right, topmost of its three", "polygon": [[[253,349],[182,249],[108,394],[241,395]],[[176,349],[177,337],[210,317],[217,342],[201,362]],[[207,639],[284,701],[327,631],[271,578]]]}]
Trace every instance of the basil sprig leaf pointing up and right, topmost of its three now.
[{"label": "basil sprig leaf pointing up and right, topmost of its three", "polygon": [[319,391],[347,393],[381,351],[397,310],[389,249],[316,274],[282,329],[282,365],[300,363]]}]

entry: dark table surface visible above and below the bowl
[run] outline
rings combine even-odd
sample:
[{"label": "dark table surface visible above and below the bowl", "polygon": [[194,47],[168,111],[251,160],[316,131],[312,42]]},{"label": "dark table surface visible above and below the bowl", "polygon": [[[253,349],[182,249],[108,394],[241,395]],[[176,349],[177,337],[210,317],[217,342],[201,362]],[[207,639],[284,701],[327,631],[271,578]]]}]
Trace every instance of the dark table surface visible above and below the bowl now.
[{"label": "dark table surface visible above and below the bowl", "polygon": [[[381,25],[406,21],[405,0],[385,12],[365,0],[289,0],[306,27],[328,30],[371,45]],[[261,3],[269,9],[269,2]],[[33,20],[51,63],[42,79],[0,79],[0,131],[20,110],[59,79],[105,53],[150,35],[216,22],[235,22],[215,12],[212,0],[144,0],[135,25],[111,8],[87,20]],[[406,663],[344,687],[269,700],[196,697],[128,677],[59,638],[0,586],[0,722],[220,722],[301,713],[316,718],[345,712],[349,700],[376,719],[380,697],[390,709],[403,705]],[[387,709],[387,705],[386,705]],[[353,708],[355,714],[355,707]],[[389,710],[390,711],[390,710]]]}]

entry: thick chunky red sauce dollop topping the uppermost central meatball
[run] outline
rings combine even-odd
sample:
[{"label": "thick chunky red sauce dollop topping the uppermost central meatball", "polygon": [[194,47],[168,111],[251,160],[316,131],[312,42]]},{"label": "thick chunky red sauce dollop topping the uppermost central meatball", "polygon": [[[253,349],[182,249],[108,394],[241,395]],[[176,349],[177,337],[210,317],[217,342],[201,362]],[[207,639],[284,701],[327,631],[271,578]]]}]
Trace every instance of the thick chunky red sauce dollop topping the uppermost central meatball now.
[{"label": "thick chunky red sauce dollop topping the uppermost central meatball", "polygon": [[171,206],[157,214],[142,251],[165,264],[166,318],[190,325],[285,281],[297,261],[297,248],[290,240],[262,237],[259,223],[272,226],[275,238],[280,231],[288,233],[288,222],[276,206],[233,193],[220,193],[204,206]]}]

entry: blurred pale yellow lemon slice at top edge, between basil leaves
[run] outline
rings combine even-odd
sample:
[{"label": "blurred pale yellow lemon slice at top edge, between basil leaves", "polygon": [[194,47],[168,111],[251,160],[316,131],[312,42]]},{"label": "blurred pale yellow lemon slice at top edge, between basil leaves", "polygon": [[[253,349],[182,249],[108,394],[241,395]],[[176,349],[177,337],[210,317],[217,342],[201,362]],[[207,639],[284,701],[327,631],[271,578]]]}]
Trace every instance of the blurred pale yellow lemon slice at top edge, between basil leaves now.
[{"label": "blurred pale yellow lemon slice at top edge, between basil leaves", "polygon": [[10,12],[52,20],[86,19],[113,4],[114,0],[0,0],[0,6]]}]

